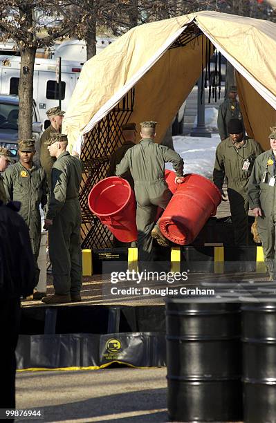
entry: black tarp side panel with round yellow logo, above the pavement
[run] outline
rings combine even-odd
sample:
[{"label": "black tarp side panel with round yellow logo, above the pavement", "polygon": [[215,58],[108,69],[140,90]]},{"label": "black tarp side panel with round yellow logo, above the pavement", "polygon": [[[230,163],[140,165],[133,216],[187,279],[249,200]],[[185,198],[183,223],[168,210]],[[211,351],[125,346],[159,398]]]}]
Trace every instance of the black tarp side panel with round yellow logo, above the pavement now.
[{"label": "black tarp side panel with round yellow logo, above the pavement", "polygon": [[134,367],[165,366],[165,334],[20,335],[18,369],[101,368],[113,362]]}]

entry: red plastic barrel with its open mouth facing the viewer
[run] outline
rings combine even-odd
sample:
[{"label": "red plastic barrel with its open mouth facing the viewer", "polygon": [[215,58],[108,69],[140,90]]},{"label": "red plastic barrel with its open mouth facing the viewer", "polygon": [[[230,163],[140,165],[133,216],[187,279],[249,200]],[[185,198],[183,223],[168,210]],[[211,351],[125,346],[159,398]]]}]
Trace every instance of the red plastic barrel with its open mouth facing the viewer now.
[{"label": "red plastic barrel with its open mouth facing the viewer", "polygon": [[136,200],[127,180],[117,176],[101,180],[91,189],[88,205],[119,241],[136,241]]}]

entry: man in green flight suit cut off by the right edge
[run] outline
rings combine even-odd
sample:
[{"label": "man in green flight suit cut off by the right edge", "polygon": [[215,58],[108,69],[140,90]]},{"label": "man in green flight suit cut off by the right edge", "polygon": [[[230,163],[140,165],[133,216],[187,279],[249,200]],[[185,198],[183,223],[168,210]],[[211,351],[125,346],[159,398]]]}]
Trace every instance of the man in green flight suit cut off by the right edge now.
[{"label": "man in green flight suit cut off by the right edge", "polygon": [[276,280],[276,126],[270,128],[270,147],[255,160],[248,184],[250,209],[257,218],[257,227],[264,251],[269,280]]}]

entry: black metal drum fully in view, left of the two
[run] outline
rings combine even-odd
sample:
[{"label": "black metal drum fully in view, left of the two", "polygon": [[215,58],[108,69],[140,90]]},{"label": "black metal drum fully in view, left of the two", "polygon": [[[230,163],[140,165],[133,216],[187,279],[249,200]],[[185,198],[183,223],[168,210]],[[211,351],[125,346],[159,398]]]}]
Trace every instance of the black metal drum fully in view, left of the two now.
[{"label": "black metal drum fully in view, left of the two", "polygon": [[166,300],[169,418],[242,420],[240,304],[233,298]]}]

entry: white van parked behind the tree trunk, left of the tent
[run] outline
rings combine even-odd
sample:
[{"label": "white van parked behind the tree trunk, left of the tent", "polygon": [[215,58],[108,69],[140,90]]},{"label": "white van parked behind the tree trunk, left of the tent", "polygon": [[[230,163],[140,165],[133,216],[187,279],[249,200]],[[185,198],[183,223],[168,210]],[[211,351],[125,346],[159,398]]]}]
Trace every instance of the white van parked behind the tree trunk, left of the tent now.
[{"label": "white van parked behind the tree trunk, left of the tent", "polygon": [[[0,55],[1,94],[18,94],[20,62],[21,57],[19,56]],[[82,64],[68,60],[62,61],[62,109],[64,111],[66,111],[75,84],[77,84],[77,79],[82,70]],[[56,71],[57,66],[55,60],[35,59],[33,98],[39,109],[43,129],[46,129],[50,124],[46,111],[50,107],[59,105],[59,86],[57,84]]]}]

